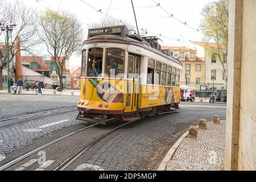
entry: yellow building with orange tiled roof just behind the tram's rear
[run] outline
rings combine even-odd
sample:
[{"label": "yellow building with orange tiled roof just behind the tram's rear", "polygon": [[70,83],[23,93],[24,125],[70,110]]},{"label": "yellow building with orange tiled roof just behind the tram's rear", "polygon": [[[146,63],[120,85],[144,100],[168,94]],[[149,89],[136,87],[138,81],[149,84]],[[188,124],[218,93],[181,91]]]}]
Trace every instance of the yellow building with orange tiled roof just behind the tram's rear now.
[{"label": "yellow building with orange tiled roof just behind the tram's rear", "polygon": [[194,86],[196,90],[200,90],[200,85],[205,85],[204,60],[196,55],[195,49],[167,46],[162,46],[161,49],[170,50],[171,55],[183,64],[181,85]]}]

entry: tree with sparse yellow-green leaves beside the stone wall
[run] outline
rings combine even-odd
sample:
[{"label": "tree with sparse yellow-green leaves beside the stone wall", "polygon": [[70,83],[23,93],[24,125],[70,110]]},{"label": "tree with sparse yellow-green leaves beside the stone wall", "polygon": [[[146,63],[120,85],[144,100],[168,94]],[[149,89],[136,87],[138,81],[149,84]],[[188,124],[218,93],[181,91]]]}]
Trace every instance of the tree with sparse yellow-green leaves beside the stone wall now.
[{"label": "tree with sparse yellow-green leaves beside the stone wall", "polygon": [[226,56],[228,55],[228,0],[218,0],[208,3],[201,11],[203,19],[200,29],[204,34],[206,42],[214,41],[216,48],[208,47],[208,51],[218,57],[223,68],[223,75],[226,82],[228,81],[228,67],[226,64]]}]

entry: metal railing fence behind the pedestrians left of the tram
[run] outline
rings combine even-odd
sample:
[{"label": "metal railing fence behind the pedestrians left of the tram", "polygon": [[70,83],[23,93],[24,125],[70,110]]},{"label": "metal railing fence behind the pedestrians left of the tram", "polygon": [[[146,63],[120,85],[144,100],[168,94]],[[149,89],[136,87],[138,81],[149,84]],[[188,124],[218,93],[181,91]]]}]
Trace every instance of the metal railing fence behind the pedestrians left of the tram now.
[{"label": "metal railing fence behind the pedestrians left of the tram", "polygon": [[[43,81],[45,88],[56,89],[60,85],[60,79],[58,76],[10,76],[10,78],[16,83],[19,78],[23,81],[23,85],[28,85],[28,89],[34,89],[36,82]],[[3,89],[7,89],[7,75],[2,76]],[[80,78],[64,76],[62,79],[64,89],[80,89]]]}]

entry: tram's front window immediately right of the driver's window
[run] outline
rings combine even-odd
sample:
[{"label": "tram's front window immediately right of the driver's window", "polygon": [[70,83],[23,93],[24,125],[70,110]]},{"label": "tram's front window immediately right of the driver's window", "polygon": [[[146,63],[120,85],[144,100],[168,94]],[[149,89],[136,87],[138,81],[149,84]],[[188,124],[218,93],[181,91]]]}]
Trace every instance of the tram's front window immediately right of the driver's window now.
[{"label": "tram's front window immediately right of the driver's window", "polygon": [[110,77],[117,76],[123,72],[125,50],[118,48],[107,49],[106,74]]}]

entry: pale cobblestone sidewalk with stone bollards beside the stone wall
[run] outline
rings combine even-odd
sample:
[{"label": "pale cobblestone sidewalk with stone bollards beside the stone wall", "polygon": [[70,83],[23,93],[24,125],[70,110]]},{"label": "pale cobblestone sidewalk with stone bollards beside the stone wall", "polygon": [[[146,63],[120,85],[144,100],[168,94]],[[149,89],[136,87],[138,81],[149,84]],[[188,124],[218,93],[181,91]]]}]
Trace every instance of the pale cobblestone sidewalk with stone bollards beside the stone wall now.
[{"label": "pale cobblestone sidewalk with stone bollards beside the stone wall", "polygon": [[167,162],[166,171],[221,171],[225,161],[225,121],[207,123],[197,138],[185,137]]}]

